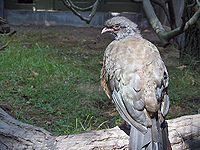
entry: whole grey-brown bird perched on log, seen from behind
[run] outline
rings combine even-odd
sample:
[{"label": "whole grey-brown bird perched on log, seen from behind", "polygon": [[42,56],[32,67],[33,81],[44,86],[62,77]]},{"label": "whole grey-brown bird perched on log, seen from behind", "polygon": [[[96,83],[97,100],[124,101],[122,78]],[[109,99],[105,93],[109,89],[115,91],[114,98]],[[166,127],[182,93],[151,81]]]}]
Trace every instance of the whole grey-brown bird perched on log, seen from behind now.
[{"label": "whole grey-brown bird perched on log, seen from behind", "polygon": [[101,86],[131,126],[129,149],[170,150],[169,75],[158,48],[123,16],[105,21],[104,33],[114,40],[104,51]]}]

